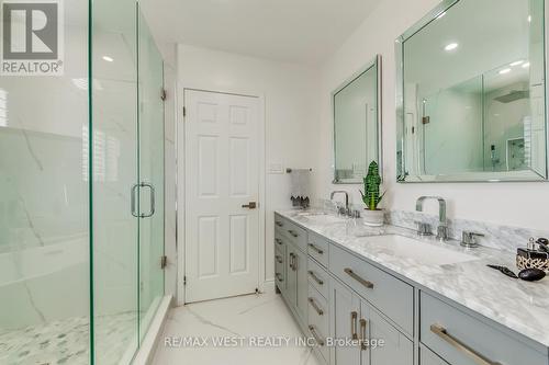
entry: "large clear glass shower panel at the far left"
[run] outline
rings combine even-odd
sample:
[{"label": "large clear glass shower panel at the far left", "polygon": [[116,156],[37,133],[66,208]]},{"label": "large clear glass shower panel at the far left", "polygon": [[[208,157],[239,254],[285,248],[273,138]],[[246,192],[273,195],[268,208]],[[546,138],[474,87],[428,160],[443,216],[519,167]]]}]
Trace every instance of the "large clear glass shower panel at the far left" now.
[{"label": "large clear glass shower panel at the far left", "polygon": [[[54,23],[65,36],[64,73],[0,75],[2,365],[90,357],[88,0],[64,5]],[[0,28],[24,31],[24,12],[10,24],[2,16]]]}]

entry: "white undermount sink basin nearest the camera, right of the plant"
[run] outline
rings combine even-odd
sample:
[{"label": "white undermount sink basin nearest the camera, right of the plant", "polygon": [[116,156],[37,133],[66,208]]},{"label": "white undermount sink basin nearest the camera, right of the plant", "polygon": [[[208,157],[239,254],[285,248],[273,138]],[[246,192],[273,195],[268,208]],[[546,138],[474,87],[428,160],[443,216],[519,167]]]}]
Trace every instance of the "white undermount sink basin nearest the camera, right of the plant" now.
[{"label": "white undermount sink basin nearest the camera, right of the plant", "polygon": [[445,243],[435,246],[397,235],[369,237],[368,242],[386,247],[397,256],[412,259],[426,265],[446,265],[479,260],[477,256],[445,248]]}]

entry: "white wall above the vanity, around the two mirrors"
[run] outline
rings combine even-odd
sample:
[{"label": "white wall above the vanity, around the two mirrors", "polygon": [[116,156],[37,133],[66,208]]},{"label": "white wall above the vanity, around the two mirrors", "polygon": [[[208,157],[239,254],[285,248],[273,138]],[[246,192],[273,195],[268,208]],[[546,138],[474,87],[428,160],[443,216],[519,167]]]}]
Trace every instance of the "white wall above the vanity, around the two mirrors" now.
[{"label": "white wall above the vanity, around the two mirrors", "polygon": [[[383,57],[383,149],[384,189],[389,191],[384,207],[413,210],[415,199],[438,194],[449,201],[449,216],[546,229],[549,207],[549,183],[442,183],[396,184],[396,117],[394,39],[439,3],[437,0],[384,0],[341,48],[323,66],[320,89],[321,121],[317,128],[317,191],[328,196],[334,190],[332,172],[332,121],[329,93],[376,54]],[[338,186],[340,187],[340,186]],[[359,185],[349,185],[355,203],[360,203]],[[435,207],[428,207],[435,213]]]}]

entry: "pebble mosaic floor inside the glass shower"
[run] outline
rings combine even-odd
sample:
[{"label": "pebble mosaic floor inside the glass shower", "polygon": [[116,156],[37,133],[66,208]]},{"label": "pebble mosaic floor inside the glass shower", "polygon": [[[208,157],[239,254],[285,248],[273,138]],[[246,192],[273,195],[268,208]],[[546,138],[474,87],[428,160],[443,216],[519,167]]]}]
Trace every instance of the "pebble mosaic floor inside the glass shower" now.
[{"label": "pebble mosaic floor inside the glass shower", "polygon": [[[104,316],[97,321],[96,339],[101,339],[97,343],[97,353],[101,356],[101,364],[116,364],[125,349],[112,349],[112,344],[130,343],[131,337],[135,335],[136,313]],[[76,317],[45,326],[0,332],[0,364],[88,365],[89,330],[89,317]],[[101,344],[104,344],[104,350]]]}]

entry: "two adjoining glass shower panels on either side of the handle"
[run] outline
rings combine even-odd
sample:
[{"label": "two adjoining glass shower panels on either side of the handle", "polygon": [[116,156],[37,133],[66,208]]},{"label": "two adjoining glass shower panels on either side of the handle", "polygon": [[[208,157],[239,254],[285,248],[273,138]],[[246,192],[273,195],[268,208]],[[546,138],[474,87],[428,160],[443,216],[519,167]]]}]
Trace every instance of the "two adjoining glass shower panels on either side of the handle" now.
[{"label": "two adjoining glass shower panels on either side of the handle", "polygon": [[133,0],[92,39],[94,364],[128,364],[164,296],[164,62]]}]

